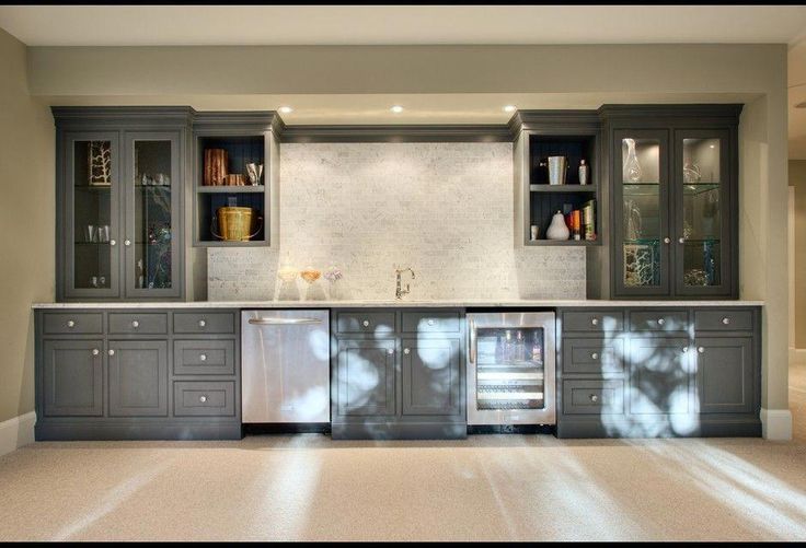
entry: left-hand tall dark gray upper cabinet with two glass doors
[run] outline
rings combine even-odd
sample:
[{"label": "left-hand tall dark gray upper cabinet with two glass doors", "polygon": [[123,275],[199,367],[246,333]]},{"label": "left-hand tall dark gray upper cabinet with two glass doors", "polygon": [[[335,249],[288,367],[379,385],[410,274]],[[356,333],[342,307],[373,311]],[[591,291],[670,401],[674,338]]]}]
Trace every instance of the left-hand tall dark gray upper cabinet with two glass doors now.
[{"label": "left-hand tall dark gray upper cabinet with two glass doors", "polygon": [[54,107],[58,300],[181,299],[186,108]]}]

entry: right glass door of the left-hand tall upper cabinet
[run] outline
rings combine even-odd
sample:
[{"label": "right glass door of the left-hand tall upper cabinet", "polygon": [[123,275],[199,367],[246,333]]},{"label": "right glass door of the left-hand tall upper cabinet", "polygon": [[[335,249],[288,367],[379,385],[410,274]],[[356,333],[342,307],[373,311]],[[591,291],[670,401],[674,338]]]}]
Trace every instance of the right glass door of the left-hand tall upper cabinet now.
[{"label": "right glass door of the left-hand tall upper cabinet", "polygon": [[179,296],[179,133],[128,132],[125,270],[127,296]]}]

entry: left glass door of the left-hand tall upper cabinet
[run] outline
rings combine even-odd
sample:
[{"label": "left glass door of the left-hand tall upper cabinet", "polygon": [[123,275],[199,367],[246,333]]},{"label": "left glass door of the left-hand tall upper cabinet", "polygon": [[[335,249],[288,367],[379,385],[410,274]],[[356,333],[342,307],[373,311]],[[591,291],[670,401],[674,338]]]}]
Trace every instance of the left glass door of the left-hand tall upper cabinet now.
[{"label": "left glass door of the left-hand tall upper cabinet", "polygon": [[68,133],[64,226],[67,295],[119,294],[119,180],[116,132]]}]

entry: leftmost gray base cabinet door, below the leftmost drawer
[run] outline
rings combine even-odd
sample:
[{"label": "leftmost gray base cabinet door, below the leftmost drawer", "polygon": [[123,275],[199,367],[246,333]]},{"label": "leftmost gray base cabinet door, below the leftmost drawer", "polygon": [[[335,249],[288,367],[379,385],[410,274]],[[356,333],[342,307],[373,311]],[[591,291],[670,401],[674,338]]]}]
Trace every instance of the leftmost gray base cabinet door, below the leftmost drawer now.
[{"label": "leftmost gray base cabinet door, below the leftmost drawer", "polygon": [[43,342],[44,410],[48,417],[102,417],[103,340]]}]

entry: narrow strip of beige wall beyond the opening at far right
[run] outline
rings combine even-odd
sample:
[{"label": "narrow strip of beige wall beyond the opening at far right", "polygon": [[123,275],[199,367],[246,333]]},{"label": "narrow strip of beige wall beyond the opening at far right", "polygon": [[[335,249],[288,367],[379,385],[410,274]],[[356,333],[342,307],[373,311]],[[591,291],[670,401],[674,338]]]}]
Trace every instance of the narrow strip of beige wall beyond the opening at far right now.
[{"label": "narrow strip of beige wall beyond the opening at far right", "polygon": [[806,160],[790,160],[795,187],[795,348],[806,348]]}]

